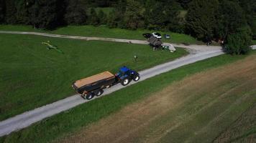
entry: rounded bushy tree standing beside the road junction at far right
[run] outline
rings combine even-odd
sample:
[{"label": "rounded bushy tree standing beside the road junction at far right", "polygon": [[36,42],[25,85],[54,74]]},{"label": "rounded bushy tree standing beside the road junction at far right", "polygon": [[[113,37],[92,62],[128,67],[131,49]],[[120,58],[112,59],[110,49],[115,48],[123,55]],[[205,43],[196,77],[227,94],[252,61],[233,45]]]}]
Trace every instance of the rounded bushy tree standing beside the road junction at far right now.
[{"label": "rounded bushy tree standing beside the road junction at far right", "polygon": [[235,33],[227,36],[227,44],[224,46],[228,54],[247,54],[252,42],[249,26],[237,29]]}]

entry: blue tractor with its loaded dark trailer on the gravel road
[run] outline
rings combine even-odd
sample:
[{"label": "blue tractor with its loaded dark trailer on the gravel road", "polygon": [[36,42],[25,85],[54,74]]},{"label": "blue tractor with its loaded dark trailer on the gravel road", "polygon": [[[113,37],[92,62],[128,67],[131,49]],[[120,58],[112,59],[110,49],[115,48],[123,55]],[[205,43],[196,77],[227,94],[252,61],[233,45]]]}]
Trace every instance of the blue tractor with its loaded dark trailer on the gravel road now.
[{"label": "blue tractor with its loaded dark trailer on the gravel road", "polygon": [[119,69],[117,74],[111,74],[109,71],[104,71],[100,74],[73,82],[72,87],[81,95],[81,97],[83,97],[83,99],[90,100],[93,99],[94,96],[101,96],[104,92],[103,89],[119,83],[123,86],[127,86],[132,80],[134,80],[134,82],[139,81],[140,74],[137,73],[137,71],[123,66]]}]

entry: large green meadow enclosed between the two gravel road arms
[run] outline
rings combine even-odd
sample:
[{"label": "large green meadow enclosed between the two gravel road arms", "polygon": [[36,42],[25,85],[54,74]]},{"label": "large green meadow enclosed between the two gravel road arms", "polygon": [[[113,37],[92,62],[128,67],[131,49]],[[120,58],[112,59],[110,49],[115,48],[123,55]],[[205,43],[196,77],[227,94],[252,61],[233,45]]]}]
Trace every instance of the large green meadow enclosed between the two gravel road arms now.
[{"label": "large green meadow enclosed between the two gravel road arms", "polygon": [[[65,54],[46,49],[50,40]],[[148,45],[0,34],[0,120],[75,94],[72,82],[121,66],[140,71],[187,53]],[[133,59],[138,56],[137,61]]]}]

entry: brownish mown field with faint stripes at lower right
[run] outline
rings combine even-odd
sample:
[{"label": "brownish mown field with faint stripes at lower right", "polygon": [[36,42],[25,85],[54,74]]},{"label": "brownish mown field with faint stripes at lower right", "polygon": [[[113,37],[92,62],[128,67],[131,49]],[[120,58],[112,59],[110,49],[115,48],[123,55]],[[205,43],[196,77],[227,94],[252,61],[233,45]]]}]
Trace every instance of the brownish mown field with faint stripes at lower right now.
[{"label": "brownish mown field with faint stripes at lower right", "polygon": [[212,142],[255,104],[255,94],[253,55],[172,84],[58,142]]}]

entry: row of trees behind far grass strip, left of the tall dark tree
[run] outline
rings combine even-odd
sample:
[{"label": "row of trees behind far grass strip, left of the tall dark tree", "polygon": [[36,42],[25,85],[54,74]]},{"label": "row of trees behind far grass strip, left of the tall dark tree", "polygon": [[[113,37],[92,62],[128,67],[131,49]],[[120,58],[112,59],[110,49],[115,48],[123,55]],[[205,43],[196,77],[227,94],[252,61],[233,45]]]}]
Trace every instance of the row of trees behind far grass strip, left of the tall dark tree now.
[{"label": "row of trees behind far grass strip, left of the tall dark tree", "polygon": [[[29,24],[54,29],[65,24],[107,24],[124,29],[169,29],[180,27],[180,5],[188,0],[0,0],[0,23]],[[106,14],[93,7],[111,6]],[[181,29],[181,30],[180,30]]]}]

